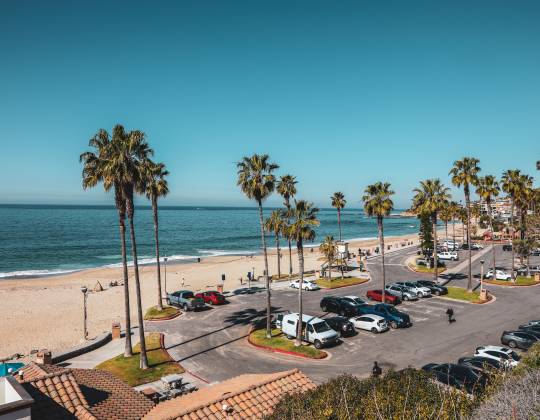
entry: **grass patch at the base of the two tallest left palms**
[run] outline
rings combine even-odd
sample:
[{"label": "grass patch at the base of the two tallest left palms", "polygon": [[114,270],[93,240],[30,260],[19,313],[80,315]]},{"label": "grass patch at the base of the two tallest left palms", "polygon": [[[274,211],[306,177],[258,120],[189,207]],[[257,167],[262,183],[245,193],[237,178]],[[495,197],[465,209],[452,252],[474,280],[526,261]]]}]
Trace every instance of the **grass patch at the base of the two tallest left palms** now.
[{"label": "grass patch at the base of the two tallest left palms", "polygon": [[184,372],[184,369],[170,358],[169,353],[161,348],[159,333],[151,333],[146,337],[146,355],[149,366],[146,370],[139,369],[140,351],[140,345],[137,344],[133,348],[133,356],[124,357],[120,354],[99,364],[96,369],[112,373],[129,386],[142,385],[157,381],[162,376],[171,373]]}]

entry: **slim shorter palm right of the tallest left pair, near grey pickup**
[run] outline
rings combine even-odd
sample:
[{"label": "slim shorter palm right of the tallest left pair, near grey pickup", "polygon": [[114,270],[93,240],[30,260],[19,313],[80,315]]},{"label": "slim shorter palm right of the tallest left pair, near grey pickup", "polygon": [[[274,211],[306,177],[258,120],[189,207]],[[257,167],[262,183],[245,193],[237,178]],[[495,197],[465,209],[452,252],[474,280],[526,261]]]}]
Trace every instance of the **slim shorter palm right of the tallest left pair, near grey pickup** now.
[{"label": "slim shorter palm right of the tallest left pair, near grey pickup", "polygon": [[158,304],[160,311],[163,310],[163,296],[161,294],[161,266],[159,261],[159,220],[158,220],[158,199],[165,197],[169,193],[169,186],[165,177],[169,171],[165,169],[165,164],[148,161],[144,167],[146,177],[146,197],[152,203],[152,213],[154,216],[154,238],[156,241],[156,268],[158,286]]}]

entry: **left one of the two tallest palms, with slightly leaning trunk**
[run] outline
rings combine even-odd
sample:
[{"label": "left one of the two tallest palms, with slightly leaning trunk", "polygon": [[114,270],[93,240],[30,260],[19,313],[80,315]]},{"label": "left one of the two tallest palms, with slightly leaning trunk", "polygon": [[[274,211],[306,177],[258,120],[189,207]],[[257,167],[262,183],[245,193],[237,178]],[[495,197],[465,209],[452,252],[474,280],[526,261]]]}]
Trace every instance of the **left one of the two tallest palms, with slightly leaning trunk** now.
[{"label": "left one of the two tallest palms, with slightly leaning trunk", "polygon": [[[115,127],[115,135],[118,131]],[[121,172],[114,171],[114,162],[116,156],[111,153],[112,139],[106,130],[99,130],[88,143],[90,147],[95,149],[94,152],[84,152],[80,156],[80,161],[83,163],[83,188],[95,187],[98,183],[103,182],[105,191],[114,190],[114,202],[118,211],[118,225],[120,227],[120,243],[122,249],[122,275],[124,280],[124,311],[126,322],[126,338],[124,347],[124,356],[130,357],[133,355],[131,346],[131,318],[129,304],[129,277],[126,254],[126,199],[124,197],[123,184],[125,179]]]}]

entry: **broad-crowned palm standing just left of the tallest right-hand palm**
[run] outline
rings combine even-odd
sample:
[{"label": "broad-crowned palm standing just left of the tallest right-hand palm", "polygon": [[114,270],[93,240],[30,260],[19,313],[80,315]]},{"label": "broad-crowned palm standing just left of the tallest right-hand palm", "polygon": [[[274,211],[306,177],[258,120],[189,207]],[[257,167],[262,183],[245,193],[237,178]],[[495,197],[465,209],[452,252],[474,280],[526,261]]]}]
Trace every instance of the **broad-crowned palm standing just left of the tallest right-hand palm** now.
[{"label": "broad-crowned palm standing just left of the tallest right-hand palm", "polygon": [[448,188],[439,179],[427,179],[420,182],[420,188],[413,190],[416,194],[413,198],[413,211],[429,214],[433,230],[433,268],[435,281],[439,278],[437,262],[437,216],[444,209],[450,199]]}]

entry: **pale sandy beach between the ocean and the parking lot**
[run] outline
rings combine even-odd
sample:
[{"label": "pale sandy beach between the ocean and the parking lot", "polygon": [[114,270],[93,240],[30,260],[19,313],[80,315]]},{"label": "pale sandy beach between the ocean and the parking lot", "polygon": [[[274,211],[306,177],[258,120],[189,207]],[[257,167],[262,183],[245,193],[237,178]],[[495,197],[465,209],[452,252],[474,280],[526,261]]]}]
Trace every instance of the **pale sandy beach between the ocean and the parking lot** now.
[{"label": "pale sandy beach between the ocean and the parking lot", "polygon": [[[418,236],[414,234],[385,238],[385,243],[393,249],[409,241],[416,243]],[[358,248],[373,250],[376,246],[377,240],[350,241],[349,251],[357,253]],[[298,260],[296,253],[293,253],[293,270],[297,272]],[[269,254],[270,273],[277,274],[275,250],[270,250]],[[314,248],[313,252],[306,249],[306,271],[320,267],[322,261],[319,258],[317,248]],[[282,273],[288,272],[288,260],[288,251],[283,250]],[[245,283],[247,272],[253,268],[256,276],[262,274],[262,255],[209,257],[202,259],[200,263],[169,264],[167,290],[170,292],[189,289],[196,292],[215,289],[216,285],[221,284],[222,274],[226,276],[224,289],[233,290],[242,287],[240,277]],[[140,274],[142,302],[147,309],[157,303],[156,268],[153,265],[142,266]],[[80,288],[84,285],[93,289],[98,281],[105,290],[88,296],[89,337],[110,331],[113,322],[119,321],[123,327],[123,287],[109,287],[111,281],[120,281],[121,278],[121,268],[96,268],[54,277],[0,281],[0,358],[14,353],[28,355],[31,350],[43,348],[54,354],[80,344],[83,335],[83,295]],[[182,279],[185,279],[183,286]],[[262,285],[262,282],[260,283]],[[137,325],[134,286],[133,273],[130,270],[131,319],[132,325]]]}]

